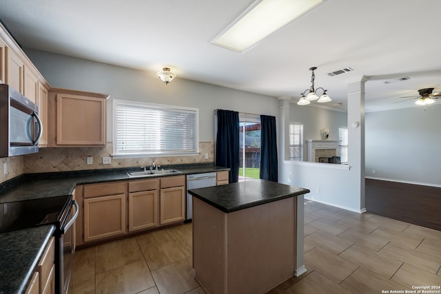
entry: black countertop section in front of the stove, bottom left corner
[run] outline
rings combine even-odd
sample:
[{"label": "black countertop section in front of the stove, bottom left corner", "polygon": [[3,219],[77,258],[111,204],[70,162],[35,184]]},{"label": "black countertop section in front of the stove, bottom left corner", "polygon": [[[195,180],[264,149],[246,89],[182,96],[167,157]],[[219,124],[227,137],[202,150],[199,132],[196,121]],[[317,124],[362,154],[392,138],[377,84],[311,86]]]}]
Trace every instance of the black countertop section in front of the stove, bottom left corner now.
[{"label": "black countertop section in front of the stove, bottom left corner", "polygon": [[24,293],[54,233],[50,225],[0,233],[0,293]]}]

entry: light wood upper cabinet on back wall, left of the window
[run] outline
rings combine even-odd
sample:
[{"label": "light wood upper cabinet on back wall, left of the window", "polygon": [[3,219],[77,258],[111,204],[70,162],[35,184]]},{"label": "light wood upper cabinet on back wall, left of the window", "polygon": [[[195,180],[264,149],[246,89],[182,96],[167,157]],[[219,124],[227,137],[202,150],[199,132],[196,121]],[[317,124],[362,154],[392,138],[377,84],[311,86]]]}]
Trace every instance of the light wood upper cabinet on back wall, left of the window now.
[{"label": "light wood upper cabinet on back wall, left of the window", "polygon": [[108,95],[51,89],[49,147],[105,146]]}]

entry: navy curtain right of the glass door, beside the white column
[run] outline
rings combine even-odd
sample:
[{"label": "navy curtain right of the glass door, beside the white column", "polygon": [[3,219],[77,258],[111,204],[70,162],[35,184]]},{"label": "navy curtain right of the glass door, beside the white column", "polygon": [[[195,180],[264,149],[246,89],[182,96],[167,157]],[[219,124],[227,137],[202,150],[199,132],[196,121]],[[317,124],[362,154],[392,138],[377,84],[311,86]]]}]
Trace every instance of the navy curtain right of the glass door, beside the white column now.
[{"label": "navy curtain right of the glass door, beside the white column", "polygon": [[260,116],[260,178],[278,181],[276,118]]}]

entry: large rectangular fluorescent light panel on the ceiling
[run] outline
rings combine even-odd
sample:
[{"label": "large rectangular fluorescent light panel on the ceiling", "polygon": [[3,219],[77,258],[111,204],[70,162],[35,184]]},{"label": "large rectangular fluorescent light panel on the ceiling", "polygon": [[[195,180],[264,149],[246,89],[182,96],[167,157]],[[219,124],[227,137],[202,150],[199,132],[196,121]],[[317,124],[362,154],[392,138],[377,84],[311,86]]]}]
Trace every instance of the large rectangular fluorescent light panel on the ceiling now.
[{"label": "large rectangular fluorescent light panel on the ceiling", "polygon": [[247,51],[325,0],[257,0],[210,42],[239,53]]}]

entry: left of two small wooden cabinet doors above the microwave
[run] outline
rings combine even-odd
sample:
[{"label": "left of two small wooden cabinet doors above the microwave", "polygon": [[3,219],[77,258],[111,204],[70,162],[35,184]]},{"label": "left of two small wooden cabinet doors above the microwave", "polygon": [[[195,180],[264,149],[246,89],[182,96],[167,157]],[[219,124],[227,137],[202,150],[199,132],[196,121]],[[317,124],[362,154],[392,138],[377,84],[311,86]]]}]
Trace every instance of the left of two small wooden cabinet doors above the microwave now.
[{"label": "left of two small wooden cabinet doors above the microwave", "polygon": [[5,83],[23,94],[24,63],[10,48],[6,47]]}]

